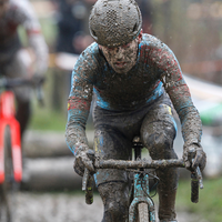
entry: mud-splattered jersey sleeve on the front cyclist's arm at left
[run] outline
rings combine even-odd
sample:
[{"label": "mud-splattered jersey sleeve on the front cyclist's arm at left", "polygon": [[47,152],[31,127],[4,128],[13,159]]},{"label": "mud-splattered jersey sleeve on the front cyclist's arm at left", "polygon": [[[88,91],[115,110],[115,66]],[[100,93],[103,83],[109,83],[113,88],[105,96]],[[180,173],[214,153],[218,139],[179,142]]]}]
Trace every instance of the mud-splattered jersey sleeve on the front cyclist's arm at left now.
[{"label": "mud-splattered jersey sleeve on the front cyclist's arm at left", "polygon": [[93,75],[97,64],[91,50],[85,50],[78,59],[72,71],[71,91],[68,98],[68,122],[65,139],[69,149],[88,148],[85,124],[93,93]]}]

